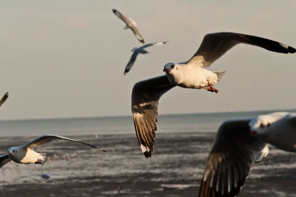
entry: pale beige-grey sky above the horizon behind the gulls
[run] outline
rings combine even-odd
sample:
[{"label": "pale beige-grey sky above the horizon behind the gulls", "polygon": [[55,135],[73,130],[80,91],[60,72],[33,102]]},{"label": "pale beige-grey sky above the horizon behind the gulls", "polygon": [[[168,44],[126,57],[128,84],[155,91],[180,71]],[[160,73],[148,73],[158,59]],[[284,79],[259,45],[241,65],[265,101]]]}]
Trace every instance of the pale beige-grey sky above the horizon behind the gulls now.
[{"label": "pale beige-grey sky above the horizon behind the gulls", "polygon": [[[132,18],[142,44],[112,8]],[[295,0],[15,0],[0,1],[0,119],[131,115],[133,85],[163,75],[166,63],[188,60],[214,32],[257,35],[296,47]],[[296,54],[238,45],[216,61],[227,70],[206,90],[174,88],[159,114],[296,108]]]}]

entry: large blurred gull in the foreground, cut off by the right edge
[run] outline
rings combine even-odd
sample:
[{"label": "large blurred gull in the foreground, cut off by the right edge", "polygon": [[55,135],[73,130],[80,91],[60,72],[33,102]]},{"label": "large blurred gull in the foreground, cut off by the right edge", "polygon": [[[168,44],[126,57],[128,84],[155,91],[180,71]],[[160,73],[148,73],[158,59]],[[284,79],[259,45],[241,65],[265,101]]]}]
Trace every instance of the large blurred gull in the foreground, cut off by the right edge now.
[{"label": "large blurred gull in the foreground, cut off by the right edge", "polygon": [[[269,144],[296,152],[295,141],[296,113],[274,112],[224,122],[210,151],[199,197],[237,196],[253,161],[266,157]],[[255,159],[254,154],[260,150]]]}]

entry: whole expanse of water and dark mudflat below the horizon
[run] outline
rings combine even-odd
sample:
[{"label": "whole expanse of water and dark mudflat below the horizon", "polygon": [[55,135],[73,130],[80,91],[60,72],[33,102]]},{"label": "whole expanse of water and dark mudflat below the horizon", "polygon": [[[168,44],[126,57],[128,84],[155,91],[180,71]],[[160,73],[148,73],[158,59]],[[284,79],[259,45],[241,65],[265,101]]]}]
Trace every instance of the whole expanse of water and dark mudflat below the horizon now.
[{"label": "whole expanse of water and dark mudflat below the horizon", "polygon": [[[0,197],[196,197],[222,122],[271,112],[159,115],[148,159],[132,116],[0,121],[2,154],[43,134],[71,137],[108,151],[62,140],[36,148],[47,153],[43,165],[10,162],[0,168]],[[267,158],[269,164],[254,164],[239,196],[296,197],[296,154],[271,146]],[[50,178],[42,179],[42,173]]]}]

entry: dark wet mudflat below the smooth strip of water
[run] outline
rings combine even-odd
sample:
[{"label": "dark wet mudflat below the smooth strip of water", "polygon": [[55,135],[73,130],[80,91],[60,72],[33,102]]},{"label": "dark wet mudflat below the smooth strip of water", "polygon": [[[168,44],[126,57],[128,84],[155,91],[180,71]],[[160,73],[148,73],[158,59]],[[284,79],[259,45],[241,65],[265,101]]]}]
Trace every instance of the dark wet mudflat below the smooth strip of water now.
[{"label": "dark wet mudflat below the smooth strip of water", "polygon": [[[74,142],[52,142],[36,149],[49,156],[43,166],[11,162],[0,169],[0,197],[196,197],[215,133],[157,133],[149,159],[135,134],[69,137],[112,155]],[[2,138],[0,151],[32,138]],[[62,158],[73,153],[71,159]],[[268,165],[253,164],[239,197],[296,197],[296,154],[270,147],[267,158]],[[40,172],[61,175],[19,178]]]}]

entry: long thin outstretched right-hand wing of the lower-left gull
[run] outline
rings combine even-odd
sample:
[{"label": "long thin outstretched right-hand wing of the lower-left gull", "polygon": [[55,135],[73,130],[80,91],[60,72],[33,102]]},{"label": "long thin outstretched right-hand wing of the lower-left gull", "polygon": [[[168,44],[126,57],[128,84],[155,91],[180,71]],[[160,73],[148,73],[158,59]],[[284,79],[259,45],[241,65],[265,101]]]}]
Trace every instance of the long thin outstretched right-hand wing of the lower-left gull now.
[{"label": "long thin outstretched right-hand wing of the lower-left gull", "polygon": [[71,139],[71,138],[68,138],[68,137],[63,137],[63,136],[59,136],[59,135],[51,135],[51,134],[42,135],[40,137],[37,137],[36,139],[32,140],[28,144],[24,145],[24,147],[26,149],[28,149],[28,148],[34,149],[35,147],[38,148],[38,147],[43,146],[44,144],[47,144],[49,142],[52,142],[52,141],[55,141],[55,140],[61,140],[61,139],[74,141],[74,142],[78,142],[78,143],[81,143],[81,144],[85,144],[85,145],[91,146],[93,148],[96,148],[98,150],[101,150],[101,151],[107,153],[107,151],[99,149],[99,148],[97,148],[97,147],[95,147],[95,146],[93,146],[91,144],[84,143],[84,142],[81,142],[81,141],[78,141],[78,140],[75,140],[75,139]]}]

